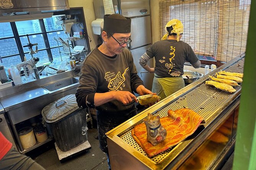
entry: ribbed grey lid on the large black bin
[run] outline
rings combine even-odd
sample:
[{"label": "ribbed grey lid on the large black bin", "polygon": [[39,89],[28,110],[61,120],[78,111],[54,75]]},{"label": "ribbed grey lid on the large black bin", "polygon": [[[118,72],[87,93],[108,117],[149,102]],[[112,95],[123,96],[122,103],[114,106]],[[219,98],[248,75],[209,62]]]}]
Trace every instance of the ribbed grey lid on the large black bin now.
[{"label": "ribbed grey lid on the large black bin", "polygon": [[47,123],[54,123],[78,109],[75,94],[67,95],[42,109],[42,117]]}]

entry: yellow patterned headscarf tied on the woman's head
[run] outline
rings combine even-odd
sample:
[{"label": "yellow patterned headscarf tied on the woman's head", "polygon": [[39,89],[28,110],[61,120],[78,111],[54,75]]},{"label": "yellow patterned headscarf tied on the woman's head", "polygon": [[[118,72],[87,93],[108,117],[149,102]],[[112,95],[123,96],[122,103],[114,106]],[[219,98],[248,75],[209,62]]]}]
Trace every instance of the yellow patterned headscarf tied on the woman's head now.
[{"label": "yellow patterned headscarf tied on the woman's head", "polygon": [[172,19],[165,25],[165,32],[166,34],[161,38],[161,40],[166,40],[169,32],[167,31],[167,27],[173,26],[173,30],[171,30],[171,33],[177,34],[177,42],[179,41],[179,34],[183,33],[183,24],[179,19]]}]

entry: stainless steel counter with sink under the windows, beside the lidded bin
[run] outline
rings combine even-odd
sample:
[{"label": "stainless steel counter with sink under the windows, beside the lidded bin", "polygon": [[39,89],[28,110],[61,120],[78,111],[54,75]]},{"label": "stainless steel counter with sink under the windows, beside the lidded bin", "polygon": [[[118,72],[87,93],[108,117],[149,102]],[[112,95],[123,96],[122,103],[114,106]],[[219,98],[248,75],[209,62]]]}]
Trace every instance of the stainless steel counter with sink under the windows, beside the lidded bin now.
[{"label": "stainless steel counter with sink under the windows, beside the lidded bin", "polygon": [[10,120],[13,136],[17,141],[20,152],[30,151],[43,143],[37,143],[29,149],[23,149],[18,136],[16,125],[24,120],[41,114],[42,109],[48,104],[66,95],[74,94],[77,90],[77,76],[72,71],[51,75],[43,79],[23,83],[10,88],[0,90],[0,111]]}]

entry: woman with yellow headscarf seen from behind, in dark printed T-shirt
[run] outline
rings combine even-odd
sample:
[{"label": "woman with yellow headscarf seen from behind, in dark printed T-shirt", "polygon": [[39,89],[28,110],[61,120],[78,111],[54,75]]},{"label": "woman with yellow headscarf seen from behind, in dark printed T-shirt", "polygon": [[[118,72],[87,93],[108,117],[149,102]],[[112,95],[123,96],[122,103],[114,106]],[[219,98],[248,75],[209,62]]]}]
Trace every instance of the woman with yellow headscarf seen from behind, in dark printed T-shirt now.
[{"label": "woman with yellow headscarf seen from behind, in dark printed T-shirt", "polygon": [[[181,41],[183,24],[178,19],[172,19],[165,26],[166,34],[161,41],[155,42],[140,57],[140,65],[150,73],[154,73],[152,92],[161,99],[185,87],[182,75],[185,61],[199,68],[201,62],[192,48]],[[155,68],[148,66],[149,59],[155,57]]]}]

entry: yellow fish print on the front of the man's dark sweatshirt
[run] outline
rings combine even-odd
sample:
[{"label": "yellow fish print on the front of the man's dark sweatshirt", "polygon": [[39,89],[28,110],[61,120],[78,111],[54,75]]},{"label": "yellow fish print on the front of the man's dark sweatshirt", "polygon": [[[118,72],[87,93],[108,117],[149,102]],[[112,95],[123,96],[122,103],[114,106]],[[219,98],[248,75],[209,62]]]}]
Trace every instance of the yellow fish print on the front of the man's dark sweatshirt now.
[{"label": "yellow fish print on the front of the man's dark sweatshirt", "polygon": [[[129,71],[129,67],[127,67],[124,71],[123,74],[120,73],[120,71],[117,73],[116,77],[114,77],[113,79],[109,80],[109,83],[108,83],[108,88],[109,88],[109,91],[117,91],[119,90],[122,90],[122,87],[120,87],[124,81],[126,80],[125,79],[125,75],[126,75],[126,72]],[[107,73],[106,73],[107,74]],[[106,74],[105,74],[105,77],[106,77]],[[123,87],[125,87],[125,84],[122,85]]]}]

